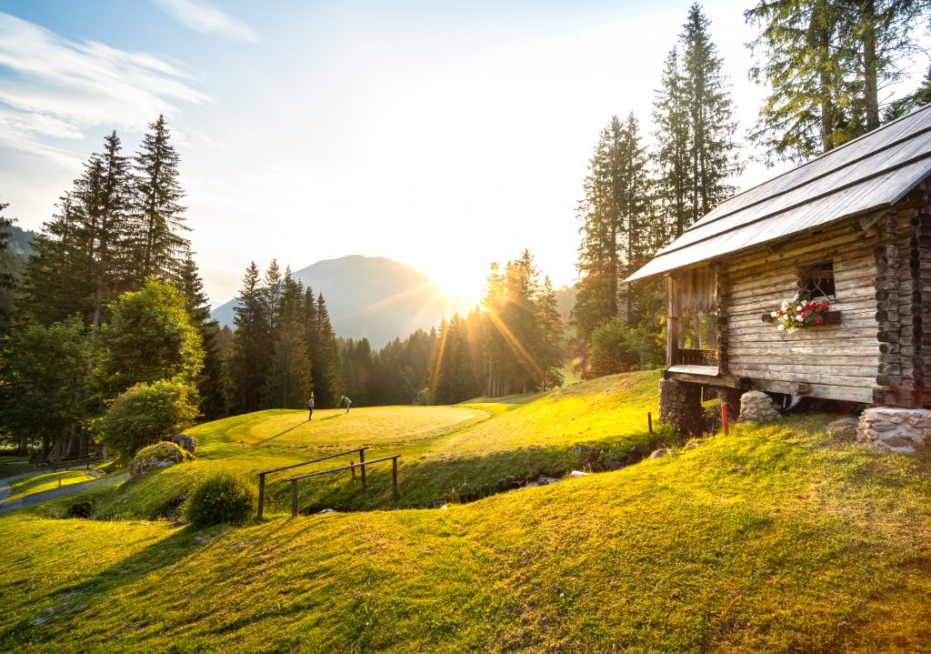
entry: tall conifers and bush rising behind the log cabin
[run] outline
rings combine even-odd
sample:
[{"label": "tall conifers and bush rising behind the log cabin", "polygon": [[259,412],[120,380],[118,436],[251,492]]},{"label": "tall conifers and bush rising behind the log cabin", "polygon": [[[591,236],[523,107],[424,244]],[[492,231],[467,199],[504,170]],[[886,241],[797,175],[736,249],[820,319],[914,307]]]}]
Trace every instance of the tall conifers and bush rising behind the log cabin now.
[{"label": "tall conifers and bush rising behind the log cabin", "polygon": [[[898,98],[883,90],[917,50],[917,0],[761,0],[744,13],[751,80],[771,89],[749,141],[773,164],[804,160],[931,101],[931,71]],[[640,123],[601,130],[578,206],[579,280],[570,325],[582,372],[606,375],[663,361],[665,288],[623,279],[735,192],[743,170],[735,103],[702,7],[689,8],[654,93],[653,145]],[[688,331],[687,328],[685,330]],[[688,335],[688,334],[684,334]]]}]

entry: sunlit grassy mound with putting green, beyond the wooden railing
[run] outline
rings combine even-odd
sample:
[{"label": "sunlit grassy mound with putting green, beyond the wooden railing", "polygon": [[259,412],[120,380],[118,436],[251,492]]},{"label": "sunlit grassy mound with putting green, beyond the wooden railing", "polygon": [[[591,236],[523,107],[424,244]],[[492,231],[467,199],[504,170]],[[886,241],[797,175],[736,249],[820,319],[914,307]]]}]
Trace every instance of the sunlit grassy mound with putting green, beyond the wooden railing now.
[{"label": "sunlit grassy mound with putting green, beyond the wooden railing", "polygon": [[[254,474],[317,456],[366,446],[369,460],[398,454],[399,497],[392,497],[390,464],[368,470],[369,489],[349,472],[303,481],[300,507],[427,508],[472,500],[498,491],[501,480],[530,480],[541,473],[599,468],[605,456],[632,462],[660,444],[669,431],[649,434],[656,372],[617,375],[532,397],[456,406],[397,406],[317,411],[263,411],[192,429],[193,463],[145,475],[126,488],[96,494],[95,517],[149,518],[172,514],[188,490],[211,470]],[[358,456],[352,457],[358,461]],[[266,511],[290,511],[292,474],[344,465],[349,457],[268,477]]]}]

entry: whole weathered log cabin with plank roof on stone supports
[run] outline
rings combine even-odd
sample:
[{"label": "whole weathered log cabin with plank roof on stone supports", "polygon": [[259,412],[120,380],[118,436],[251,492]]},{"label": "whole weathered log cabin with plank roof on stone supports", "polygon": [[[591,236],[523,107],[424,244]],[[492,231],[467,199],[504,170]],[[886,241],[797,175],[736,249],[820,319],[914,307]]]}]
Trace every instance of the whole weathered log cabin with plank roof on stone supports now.
[{"label": "whole weathered log cabin with plank roof on stone supports", "polygon": [[627,281],[659,276],[661,420],[810,397],[852,403],[861,443],[931,444],[931,106],[722,202]]}]

